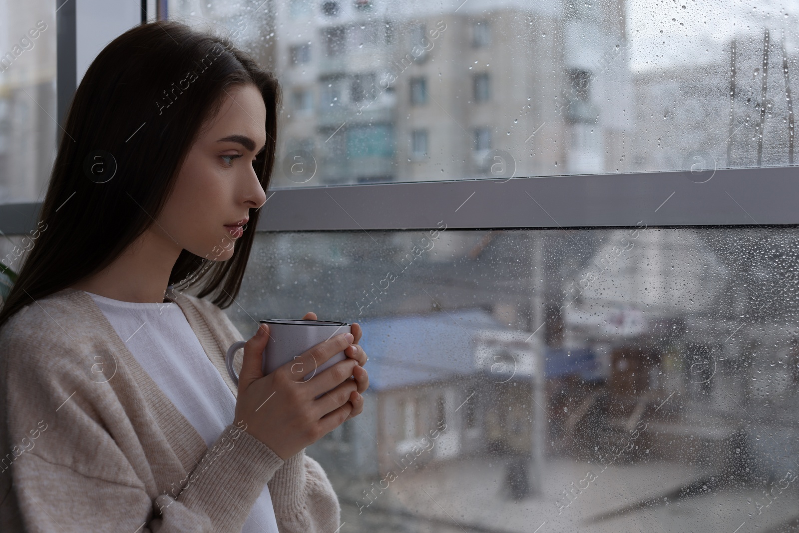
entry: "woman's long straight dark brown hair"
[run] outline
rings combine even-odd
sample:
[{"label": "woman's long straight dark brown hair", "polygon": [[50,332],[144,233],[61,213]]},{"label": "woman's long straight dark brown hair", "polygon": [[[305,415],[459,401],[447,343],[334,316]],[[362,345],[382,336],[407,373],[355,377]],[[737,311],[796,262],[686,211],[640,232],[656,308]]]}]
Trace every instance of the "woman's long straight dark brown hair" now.
[{"label": "woman's long straight dark brown hair", "polygon": [[[197,133],[220,109],[225,89],[239,84],[264,97],[266,148],[253,166],[266,190],[281,97],[272,73],[229,38],[180,22],[136,26],[105,46],[74,94],[38,238],[0,309],[0,326],[26,304],[101,271],[153,224]],[[216,292],[214,304],[232,304],[259,211],[251,211],[233,257],[209,264],[184,249],[169,284],[196,276],[197,296]]]}]

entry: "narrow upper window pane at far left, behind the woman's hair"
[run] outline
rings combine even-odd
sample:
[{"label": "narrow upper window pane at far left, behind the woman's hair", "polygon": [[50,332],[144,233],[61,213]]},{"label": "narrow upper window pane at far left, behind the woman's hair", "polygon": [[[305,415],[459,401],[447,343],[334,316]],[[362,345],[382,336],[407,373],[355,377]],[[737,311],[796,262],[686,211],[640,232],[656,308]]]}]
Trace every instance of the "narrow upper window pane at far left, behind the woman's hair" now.
[{"label": "narrow upper window pane at far left, behind the woman's hair", "polygon": [[55,159],[55,2],[0,0],[0,203],[41,201]]}]

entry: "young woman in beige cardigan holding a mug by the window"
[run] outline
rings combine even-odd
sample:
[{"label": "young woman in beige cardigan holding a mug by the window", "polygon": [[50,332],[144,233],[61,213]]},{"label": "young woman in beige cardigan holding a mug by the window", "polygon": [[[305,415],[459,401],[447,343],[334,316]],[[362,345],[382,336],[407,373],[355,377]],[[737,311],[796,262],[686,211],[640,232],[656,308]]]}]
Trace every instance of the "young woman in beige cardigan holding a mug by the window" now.
[{"label": "young woman in beige cardigan holding a mug by the window", "polygon": [[279,103],[229,39],[175,22],[89,67],[0,309],[0,530],[340,527],[304,447],[364,408],[360,327],[263,376],[261,325],[237,387],[225,370]]}]

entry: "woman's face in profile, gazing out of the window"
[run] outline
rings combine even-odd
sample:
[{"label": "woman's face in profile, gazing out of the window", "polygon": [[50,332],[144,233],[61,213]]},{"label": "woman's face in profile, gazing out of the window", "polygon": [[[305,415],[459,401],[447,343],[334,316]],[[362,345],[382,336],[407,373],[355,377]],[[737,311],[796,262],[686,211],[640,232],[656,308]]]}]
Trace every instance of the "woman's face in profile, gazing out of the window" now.
[{"label": "woman's face in profile, gazing out of the window", "polygon": [[253,85],[225,90],[219,113],[189,149],[173,193],[157,218],[167,238],[211,261],[233,256],[250,209],[266,201],[252,168],[266,142],[264,99]]}]

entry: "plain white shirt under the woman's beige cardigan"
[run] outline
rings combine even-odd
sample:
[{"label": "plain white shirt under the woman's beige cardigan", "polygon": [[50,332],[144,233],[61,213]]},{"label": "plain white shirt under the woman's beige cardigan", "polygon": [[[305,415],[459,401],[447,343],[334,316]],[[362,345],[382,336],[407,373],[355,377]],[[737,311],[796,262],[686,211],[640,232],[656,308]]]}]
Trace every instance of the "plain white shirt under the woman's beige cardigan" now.
[{"label": "plain white shirt under the woman's beige cardigan", "polygon": [[[209,447],[233,423],[236,398],[177,304],[113,300],[87,292],[142,368]],[[232,503],[235,505],[235,503]],[[242,533],[278,533],[268,486]]]}]

